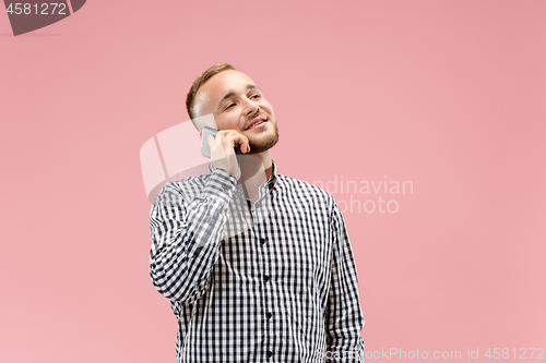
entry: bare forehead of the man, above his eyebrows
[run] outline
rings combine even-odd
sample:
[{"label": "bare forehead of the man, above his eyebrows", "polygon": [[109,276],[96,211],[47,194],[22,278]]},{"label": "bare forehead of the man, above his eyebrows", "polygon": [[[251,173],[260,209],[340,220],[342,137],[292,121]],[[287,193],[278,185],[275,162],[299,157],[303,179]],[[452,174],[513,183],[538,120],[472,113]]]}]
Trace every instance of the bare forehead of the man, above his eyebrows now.
[{"label": "bare forehead of the man, above his eyebrows", "polygon": [[217,102],[228,93],[246,93],[248,85],[254,82],[245,73],[228,70],[213,75],[195,95],[198,101]]}]

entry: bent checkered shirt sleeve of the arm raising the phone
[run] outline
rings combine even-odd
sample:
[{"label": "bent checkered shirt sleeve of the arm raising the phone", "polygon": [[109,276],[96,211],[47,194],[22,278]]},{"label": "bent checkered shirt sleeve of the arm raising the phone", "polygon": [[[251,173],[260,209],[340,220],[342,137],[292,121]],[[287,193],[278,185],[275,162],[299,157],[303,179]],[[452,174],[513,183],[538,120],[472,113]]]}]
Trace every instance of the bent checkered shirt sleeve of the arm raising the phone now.
[{"label": "bent checkered shirt sleeve of the arm raising the phone", "polygon": [[194,198],[188,201],[176,183],[167,183],[155,198],[150,275],[165,298],[193,303],[206,291],[236,183],[224,169],[214,169]]}]

